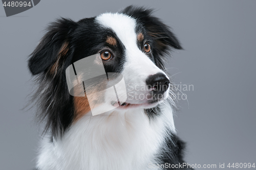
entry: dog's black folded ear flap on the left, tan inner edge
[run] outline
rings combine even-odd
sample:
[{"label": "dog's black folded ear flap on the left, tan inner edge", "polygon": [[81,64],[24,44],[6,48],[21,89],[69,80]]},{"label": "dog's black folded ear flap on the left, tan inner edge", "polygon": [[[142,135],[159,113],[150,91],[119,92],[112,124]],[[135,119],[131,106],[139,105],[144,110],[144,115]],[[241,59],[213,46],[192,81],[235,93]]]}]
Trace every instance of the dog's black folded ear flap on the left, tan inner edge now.
[{"label": "dog's black folded ear flap on the left, tan inner edge", "polygon": [[[77,23],[71,19],[60,18],[52,22],[47,33],[30,55],[29,69],[33,75],[43,71],[57,71],[59,61],[67,57],[69,51],[70,33]],[[65,60],[65,59],[64,59]],[[56,72],[55,72],[56,73]]]}]

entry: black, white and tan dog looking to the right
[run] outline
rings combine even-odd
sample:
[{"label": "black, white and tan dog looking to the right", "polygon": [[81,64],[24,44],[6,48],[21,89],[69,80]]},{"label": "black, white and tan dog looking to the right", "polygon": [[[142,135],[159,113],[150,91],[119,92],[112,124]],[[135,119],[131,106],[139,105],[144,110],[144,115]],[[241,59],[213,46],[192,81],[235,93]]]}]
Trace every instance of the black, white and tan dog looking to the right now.
[{"label": "black, white and tan dog looking to the right", "polygon": [[[37,118],[45,123],[36,169],[192,169],[178,166],[184,163],[184,142],[176,135],[175,93],[164,67],[169,52],[182,47],[152,11],[129,6],[49,25],[28,61],[38,83],[33,96]],[[98,86],[104,92],[97,95],[97,83],[91,86],[93,100],[101,100],[98,108],[102,102],[115,106],[96,115],[90,89],[83,91],[86,95],[71,94],[67,83],[68,68],[88,56],[96,56],[106,74],[119,74],[125,82],[122,89],[114,83],[116,92],[121,90],[119,100],[106,98],[106,83]]]}]

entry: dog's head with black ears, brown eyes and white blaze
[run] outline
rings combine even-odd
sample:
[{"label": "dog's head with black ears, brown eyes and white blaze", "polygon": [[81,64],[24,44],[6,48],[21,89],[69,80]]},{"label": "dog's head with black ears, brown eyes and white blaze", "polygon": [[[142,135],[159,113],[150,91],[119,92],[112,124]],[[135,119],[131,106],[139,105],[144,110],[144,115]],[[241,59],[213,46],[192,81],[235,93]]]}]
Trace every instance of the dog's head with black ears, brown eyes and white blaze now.
[{"label": "dog's head with black ears, brown eyes and white blaze", "polygon": [[[29,69],[38,75],[40,115],[47,118],[46,129],[51,128],[53,135],[90,111],[87,96],[69,94],[65,72],[87,56],[99,54],[105,72],[123,76],[127,99],[118,101],[117,109],[153,108],[167,98],[169,78],[163,56],[181,45],[151,13],[130,6],[78,22],[61,18],[49,26],[31,54]],[[115,105],[116,101],[110,102]]]}]

